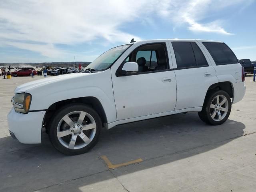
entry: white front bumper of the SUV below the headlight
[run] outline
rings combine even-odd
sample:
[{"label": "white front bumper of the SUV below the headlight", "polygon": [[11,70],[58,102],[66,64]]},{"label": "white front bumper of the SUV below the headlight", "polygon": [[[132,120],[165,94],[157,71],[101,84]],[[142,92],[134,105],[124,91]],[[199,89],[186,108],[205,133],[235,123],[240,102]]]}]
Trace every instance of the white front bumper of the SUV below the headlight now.
[{"label": "white front bumper of the SUV below the headlight", "polygon": [[12,137],[25,144],[41,143],[42,123],[46,111],[18,113],[12,108],[7,119]]}]

